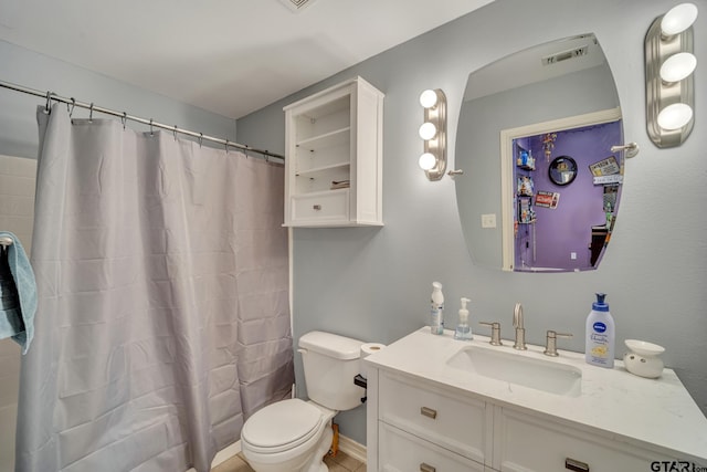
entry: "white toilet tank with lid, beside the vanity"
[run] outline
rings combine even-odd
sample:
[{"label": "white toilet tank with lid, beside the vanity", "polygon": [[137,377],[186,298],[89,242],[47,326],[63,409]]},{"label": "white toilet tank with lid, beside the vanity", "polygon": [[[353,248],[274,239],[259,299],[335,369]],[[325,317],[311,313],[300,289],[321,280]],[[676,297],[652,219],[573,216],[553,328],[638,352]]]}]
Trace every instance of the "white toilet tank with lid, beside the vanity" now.
[{"label": "white toilet tank with lid, beside the vanity", "polygon": [[354,384],[354,377],[359,374],[362,344],[362,340],[318,331],[299,338],[310,400],[337,411],[361,405],[366,390]]}]

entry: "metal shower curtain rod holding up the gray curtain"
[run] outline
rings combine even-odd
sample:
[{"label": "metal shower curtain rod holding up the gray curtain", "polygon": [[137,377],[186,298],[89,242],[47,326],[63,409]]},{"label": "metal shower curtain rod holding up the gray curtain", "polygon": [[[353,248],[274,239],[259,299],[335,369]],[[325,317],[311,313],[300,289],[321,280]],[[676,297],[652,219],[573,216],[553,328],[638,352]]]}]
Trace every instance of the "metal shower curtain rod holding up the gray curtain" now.
[{"label": "metal shower curtain rod holding up the gray curtain", "polygon": [[138,116],[128,115],[125,112],[116,112],[114,109],[104,108],[102,106],[96,106],[93,103],[88,104],[88,103],[78,102],[73,97],[72,98],[62,97],[62,96],[56,95],[53,92],[42,92],[42,91],[24,87],[22,85],[12,84],[12,83],[4,82],[4,81],[0,81],[0,87],[9,88],[9,90],[15,91],[15,92],[22,92],[22,93],[34,95],[34,96],[44,97],[44,98],[46,98],[46,106],[45,106],[46,111],[50,109],[50,106],[51,106],[50,104],[51,104],[52,101],[61,102],[61,103],[65,103],[67,105],[71,105],[72,109],[73,109],[74,106],[78,106],[81,108],[89,109],[92,115],[93,115],[93,112],[99,112],[99,113],[103,113],[103,114],[106,114],[106,115],[117,116],[118,118],[120,118],[123,120],[129,119],[131,122],[138,122],[138,123],[141,123],[144,125],[149,125],[150,129],[156,127],[156,128],[161,128],[161,129],[169,129],[170,132],[172,132],[175,134],[176,133],[180,133],[182,135],[191,136],[191,137],[198,138],[199,143],[201,143],[202,140],[218,143],[218,144],[221,144],[221,145],[225,146],[226,150],[228,150],[229,146],[231,146],[231,147],[235,147],[235,148],[241,149],[241,150],[262,154],[263,156],[267,156],[267,157],[276,157],[277,159],[283,159],[283,160],[285,159],[285,156],[281,156],[279,154],[271,153],[268,150],[256,149],[254,147],[242,145],[242,144],[238,144],[238,143],[234,143],[234,141],[231,141],[231,140],[228,140],[228,139],[214,138],[213,136],[207,136],[203,133],[190,132],[189,129],[180,129],[177,126],[170,126],[170,125],[165,125],[162,123],[155,122],[151,118],[150,119],[140,118]]}]

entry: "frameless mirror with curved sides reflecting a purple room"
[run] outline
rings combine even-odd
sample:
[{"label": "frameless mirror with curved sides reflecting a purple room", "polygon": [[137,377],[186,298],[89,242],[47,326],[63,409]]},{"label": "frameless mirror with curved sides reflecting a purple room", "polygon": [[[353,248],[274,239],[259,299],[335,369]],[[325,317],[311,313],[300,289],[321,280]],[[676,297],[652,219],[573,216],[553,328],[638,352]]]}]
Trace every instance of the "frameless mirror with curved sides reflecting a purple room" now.
[{"label": "frameless mirror with curved sides reflecting a purple room", "polygon": [[456,198],[474,263],[597,269],[616,221],[619,95],[594,34],[540,44],[469,74],[456,132]]}]

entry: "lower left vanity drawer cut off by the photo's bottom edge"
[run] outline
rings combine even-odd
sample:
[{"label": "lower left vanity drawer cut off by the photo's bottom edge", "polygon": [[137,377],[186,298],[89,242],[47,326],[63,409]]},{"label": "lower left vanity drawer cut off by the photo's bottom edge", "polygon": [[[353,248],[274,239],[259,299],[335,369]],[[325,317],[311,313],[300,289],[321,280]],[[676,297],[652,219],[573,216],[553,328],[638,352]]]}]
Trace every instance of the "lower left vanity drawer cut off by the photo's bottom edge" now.
[{"label": "lower left vanity drawer cut off by the photo's bottom edge", "polygon": [[378,423],[380,471],[484,472],[484,464],[440,448],[395,427]]}]

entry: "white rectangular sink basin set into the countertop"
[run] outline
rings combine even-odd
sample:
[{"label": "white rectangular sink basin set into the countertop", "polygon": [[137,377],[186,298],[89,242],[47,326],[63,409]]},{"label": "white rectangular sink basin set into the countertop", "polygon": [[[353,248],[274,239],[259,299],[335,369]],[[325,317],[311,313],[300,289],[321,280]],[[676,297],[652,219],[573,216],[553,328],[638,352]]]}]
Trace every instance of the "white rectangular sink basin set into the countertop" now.
[{"label": "white rectangular sink basin set into the countertop", "polygon": [[581,394],[582,371],[577,367],[520,354],[469,346],[453,355],[447,365],[549,394],[567,397],[578,397]]}]

